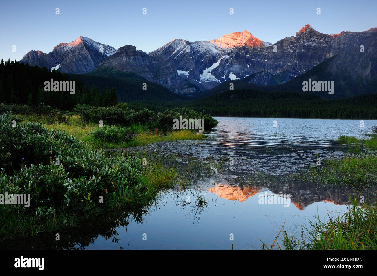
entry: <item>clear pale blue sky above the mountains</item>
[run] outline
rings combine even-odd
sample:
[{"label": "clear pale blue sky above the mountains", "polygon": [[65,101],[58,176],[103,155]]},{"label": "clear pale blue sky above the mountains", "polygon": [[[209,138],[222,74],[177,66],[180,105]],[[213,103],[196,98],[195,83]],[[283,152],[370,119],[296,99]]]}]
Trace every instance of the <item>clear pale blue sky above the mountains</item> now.
[{"label": "clear pale blue sky above the mountains", "polygon": [[363,31],[377,27],[377,1],[1,0],[0,15],[0,58],[19,60],[29,50],[49,53],[80,35],[150,52],[175,38],[212,40],[244,30],[271,43],[296,35],[305,24],[324,34]]}]

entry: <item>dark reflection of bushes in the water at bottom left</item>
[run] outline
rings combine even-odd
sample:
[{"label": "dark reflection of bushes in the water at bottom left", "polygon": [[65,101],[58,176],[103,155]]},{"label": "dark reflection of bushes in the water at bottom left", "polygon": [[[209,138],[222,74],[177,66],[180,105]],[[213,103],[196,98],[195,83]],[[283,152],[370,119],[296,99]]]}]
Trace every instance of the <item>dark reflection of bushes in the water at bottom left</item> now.
[{"label": "dark reflection of bushes in the water at bottom left", "polygon": [[[126,226],[129,221],[142,223],[146,210],[133,210],[127,212],[113,212],[106,215],[99,215],[97,218],[82,223],[82,226],[75,229],[57,230],[54,233],[45,233],[35,237],[22,240],[7,240],[0,244],[0,249],[23,249],[23,250],[48,250],[48,249],[72,249],[84,250],[99,237],[106,240],[112,238],[112,243],[119,245],[120,239],[116,238],[118,227]],[[55,234],[60,234],[60,241],[55,240]]]}]

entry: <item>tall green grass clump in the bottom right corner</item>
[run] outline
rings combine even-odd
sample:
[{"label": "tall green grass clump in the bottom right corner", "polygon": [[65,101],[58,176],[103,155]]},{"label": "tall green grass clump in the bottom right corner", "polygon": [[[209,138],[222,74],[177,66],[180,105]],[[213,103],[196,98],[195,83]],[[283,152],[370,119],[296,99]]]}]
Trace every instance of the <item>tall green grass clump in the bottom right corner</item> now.
[{"label": "tall green grass clump in the bottom right corner", "polygon": [[279,232],[279,235],[282,233],[280,238],[282,245],[263,243],[263,249],[376,250],[376,206],[371,204],[359,206],[356,198],[355,200],[350,198],[347,210],[343,214],[329,216],[328,220],[320,219],[319,215],[314,221],[308,219],[310,226],[300,226],[301,233],[288,235],[283,226],[282,231]]}]

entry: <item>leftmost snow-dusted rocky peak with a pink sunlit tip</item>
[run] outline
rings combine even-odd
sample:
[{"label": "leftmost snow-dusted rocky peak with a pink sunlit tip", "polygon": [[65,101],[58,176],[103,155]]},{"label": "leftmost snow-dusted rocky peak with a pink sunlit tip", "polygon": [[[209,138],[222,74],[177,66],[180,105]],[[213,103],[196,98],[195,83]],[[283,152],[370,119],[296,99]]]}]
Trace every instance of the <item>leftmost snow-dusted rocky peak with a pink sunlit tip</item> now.
[{"label": "leftmost snow-dusted rocky peak with a pink sunlit tip", "polygon": [[63,73],[87,73],[115,52],[113,47],[87,37],[78,37],[70,43],[60,43],[48,54],[30,51],[20,62],[59,69]]}]

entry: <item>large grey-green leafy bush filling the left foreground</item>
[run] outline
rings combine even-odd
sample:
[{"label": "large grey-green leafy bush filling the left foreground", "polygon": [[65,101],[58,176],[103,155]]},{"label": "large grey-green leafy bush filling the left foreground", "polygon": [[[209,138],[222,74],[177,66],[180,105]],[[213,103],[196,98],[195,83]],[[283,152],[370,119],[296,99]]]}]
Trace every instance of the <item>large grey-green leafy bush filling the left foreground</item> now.
[{"label": "large grey-green leafy bush filling the left foreground", "polygon": [[87,204],[98,204],[100,196],[104,205],[111,204],[126,196],[124,191],[138,184],[141,175],[140,159],[105,156],[64,132],[23,124],[11,113],[0,116],[0,164],[0,193],[31,195],[29,208],[0,205],[0,223],[14,211],[39,217],[83,212]]}]

